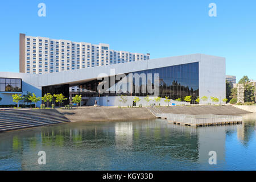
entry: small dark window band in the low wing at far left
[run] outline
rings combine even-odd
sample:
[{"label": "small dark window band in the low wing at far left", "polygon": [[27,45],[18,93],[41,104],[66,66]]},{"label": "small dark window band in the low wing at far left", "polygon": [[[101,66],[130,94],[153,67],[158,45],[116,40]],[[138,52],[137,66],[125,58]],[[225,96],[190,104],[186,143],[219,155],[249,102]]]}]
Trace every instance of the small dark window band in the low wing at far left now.
[{"label": "small dark window band in the low wing at far left", "polygon": [[0,78],[0,92],[22,92],[22,79]]}]

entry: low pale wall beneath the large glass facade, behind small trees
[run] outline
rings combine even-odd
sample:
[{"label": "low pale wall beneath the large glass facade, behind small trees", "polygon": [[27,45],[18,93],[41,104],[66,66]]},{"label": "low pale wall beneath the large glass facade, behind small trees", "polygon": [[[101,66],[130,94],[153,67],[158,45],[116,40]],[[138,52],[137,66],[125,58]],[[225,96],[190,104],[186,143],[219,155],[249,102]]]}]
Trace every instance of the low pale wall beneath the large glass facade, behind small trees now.
[{"label": "low pale wall beneath the large glass facade, behind small trees", "polygon": [[[137,106],[139,104],[142,104],[142,106],[150,106],[150,104],[155,104],[154,98],[155,97],[149,97],[149,99],[151,100],[150,102],[147,102],[146,100],[144,100],[145,97],[139,97],[141,99],[141,101],[138,102]],[[87,106],[93,106],[95,103],[95,100],[97,100],[97,105],[100,106],[125,106],[127,107],[127,105],[133,105],[133,99],[134,96],[127,96],[127,102],[126,104],[123,104],[122,102],[120,102],[120,97],[108,97],[109,102],[107,103],[107,97],[91,97],[89,98],[89,101],[87,102]],[[158,102],[158,104],[160,104],[161,106],[167,106],[166,102],[164,102],[164,98],[161,98],[161,101]],[[169,105],[171,105],[172,103],[176,104],[176,105],[189,105],[189,103],[187,102],[178,102],[178,101],[174,101],[171,100],[169,102]]]}]

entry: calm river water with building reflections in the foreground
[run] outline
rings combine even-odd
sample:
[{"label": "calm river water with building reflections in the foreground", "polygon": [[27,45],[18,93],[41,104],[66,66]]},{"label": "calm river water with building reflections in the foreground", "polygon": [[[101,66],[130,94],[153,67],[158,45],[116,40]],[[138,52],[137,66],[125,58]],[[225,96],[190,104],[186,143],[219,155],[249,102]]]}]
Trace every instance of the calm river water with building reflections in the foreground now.
[{"label": "calm river water with building reflections in the foreground", "polygon": [[[255,129],[256,114],[245,114],[230,126],[151,119],[11,131],[0,133],[0,170],[256,170]],[[210,151],[217,164],[209,164]]]}]

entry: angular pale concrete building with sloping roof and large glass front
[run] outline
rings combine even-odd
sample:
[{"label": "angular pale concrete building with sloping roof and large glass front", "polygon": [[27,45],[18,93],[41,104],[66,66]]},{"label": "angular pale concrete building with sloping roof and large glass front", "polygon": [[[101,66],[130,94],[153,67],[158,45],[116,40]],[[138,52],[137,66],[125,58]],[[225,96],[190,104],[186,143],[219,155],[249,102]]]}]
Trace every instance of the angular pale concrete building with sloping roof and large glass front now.
[{"label": "angular pale concrete building with sloping roof and large glass front", "polygon": [[[37,97],[62,93],[68,98],[64,104],[71,103],[75,94],[81,94],[82,105],[94,105],[97,101],[98,105],[117,106],[121,95],[127,96],[126,105],[133,104],[135,96],[167,96],[173,102],[192,96],[192,103],[197,97],[206,96],[208,103],[212,102],[210,97],[221,102],[226,97],[225,77],[224,57],[200,53],[42,75],[0,72],[0,105],[15,104],[13,94],[28,92]],[[81,92],[69,92],[76,85]],[[141,104],[145,104],[142,98]]]}]

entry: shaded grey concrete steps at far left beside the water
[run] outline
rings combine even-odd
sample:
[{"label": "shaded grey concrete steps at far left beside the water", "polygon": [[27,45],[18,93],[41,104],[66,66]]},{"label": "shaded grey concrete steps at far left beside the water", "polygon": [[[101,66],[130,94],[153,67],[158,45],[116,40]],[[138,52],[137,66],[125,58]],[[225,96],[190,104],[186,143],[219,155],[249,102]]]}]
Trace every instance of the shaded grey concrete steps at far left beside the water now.
[{"label": "shaded grey concrete steps at far left beside the water", "polygon": [[0,132],[69,122],[56,109],[0,111]]}]

